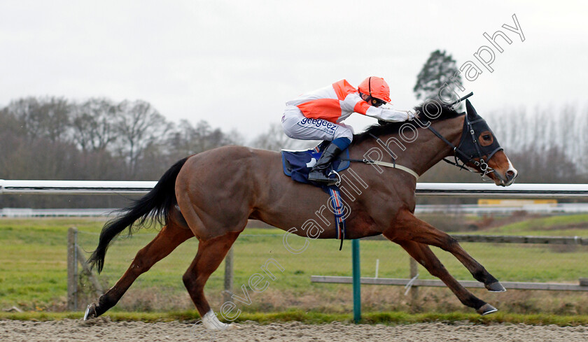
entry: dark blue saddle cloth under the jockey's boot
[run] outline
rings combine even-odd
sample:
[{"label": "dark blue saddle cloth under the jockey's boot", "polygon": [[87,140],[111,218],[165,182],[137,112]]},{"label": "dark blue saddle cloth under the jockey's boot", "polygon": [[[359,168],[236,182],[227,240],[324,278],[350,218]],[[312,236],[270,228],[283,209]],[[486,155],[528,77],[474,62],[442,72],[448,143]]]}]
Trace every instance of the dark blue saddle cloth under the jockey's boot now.
[{"label": "dark blue saddle cloth under the jockey's boot", "polygon": [[[323,154],[323,150],[326,148],[328,143],[321,143],[320,145],[316,146],[316,148],[312,148],[310,150],[302,150],[302,151],[288,151],[282,150],[282,165],[283,165],[283,173],[286,176],[291,177],[293,180],[300,182],[300,183],[307,183],[316,185],[318,187],[323,187],[323,183],[316,183],[311,182],[308,180],[308,174],[312,169],[312,166],[316,164],[316,161],[321,157]],[[343,171],[349,167],[349,149],[345,149],[335,161],[331,163],[330,168],[326,171],[328,174],[332,169],[335,171]],[[332,178],[337,178],[336,175],[332,175]]]}]

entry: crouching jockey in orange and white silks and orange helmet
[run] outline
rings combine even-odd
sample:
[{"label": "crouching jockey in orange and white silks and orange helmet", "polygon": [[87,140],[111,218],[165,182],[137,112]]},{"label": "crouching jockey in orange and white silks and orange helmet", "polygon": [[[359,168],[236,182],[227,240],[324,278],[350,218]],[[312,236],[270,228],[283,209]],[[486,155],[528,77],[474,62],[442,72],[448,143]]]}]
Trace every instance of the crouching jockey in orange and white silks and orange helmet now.
[{"label": "crouching jockey in orange and white silks and orange helmet", "polygon": [[330,163],[353,140],[353,127],[344,124],[351,113],[376,117],[379,120],[400,122],[412,120],[414,113],[381,107],[390,102],[390,87],[384,78],[371,76],[355,89],[346,80],[328,87],[302,94],[286,102],[282,127],[290,138],[326,140],[331,143],[312,167],[308,179],[334,184],[335,179],[325,175]]}]

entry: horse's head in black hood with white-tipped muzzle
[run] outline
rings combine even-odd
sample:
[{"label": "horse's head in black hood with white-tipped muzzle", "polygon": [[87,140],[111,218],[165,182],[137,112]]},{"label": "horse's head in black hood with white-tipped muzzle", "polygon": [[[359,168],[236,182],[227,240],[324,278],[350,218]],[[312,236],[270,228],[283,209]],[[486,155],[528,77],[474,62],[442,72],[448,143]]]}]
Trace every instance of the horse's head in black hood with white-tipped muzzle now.
[{"label": "horse's head in black hood with white-tipped muzzle", "polygon": [[486,120],[476,113],[470,100],[465,100],[465,111],[456,157],[465,166],[491,178],[496,185],[511,185],[517,178],[517,169],[514,169]]}]

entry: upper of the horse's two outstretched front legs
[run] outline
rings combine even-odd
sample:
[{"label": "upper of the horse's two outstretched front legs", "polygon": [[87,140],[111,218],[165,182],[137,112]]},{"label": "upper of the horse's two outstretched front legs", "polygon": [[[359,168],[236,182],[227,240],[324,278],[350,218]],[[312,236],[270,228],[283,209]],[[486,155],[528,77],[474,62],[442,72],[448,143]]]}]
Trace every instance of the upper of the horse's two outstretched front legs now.
[{"label": "upper of the horse's two outstretched front legs", "polygon": [[391,229],[384,231],[384,235],[392,241],[414,241],[446,250],[472,273],[475,280],[483,283],[486,289],[491,292],[506,291],[503,285],[484,269],[484,266],[472,258],[468,252],[465,252],[455,238],[429,225],[427,222],[419,220],[409,211],[399,213],[398,221],[395,222]]}]

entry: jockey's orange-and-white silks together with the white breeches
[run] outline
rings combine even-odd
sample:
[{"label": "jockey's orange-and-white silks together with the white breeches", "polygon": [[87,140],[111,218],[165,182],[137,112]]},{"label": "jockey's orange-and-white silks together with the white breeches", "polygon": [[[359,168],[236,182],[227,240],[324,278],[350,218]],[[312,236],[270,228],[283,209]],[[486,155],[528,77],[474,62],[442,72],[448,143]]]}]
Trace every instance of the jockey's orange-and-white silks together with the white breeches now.
[{"label": "jockey's orange-and-white silks together with the white breeches", "polygon": [[342,123],[351,113],[396,122],[413,117],[412,113],[406,111],[370,106],[359,96],[356,88],[346,80],[339,80],[286,102],[282,126],[290,138],[327,141],[349,138],[351,141],[353,128]]}]

